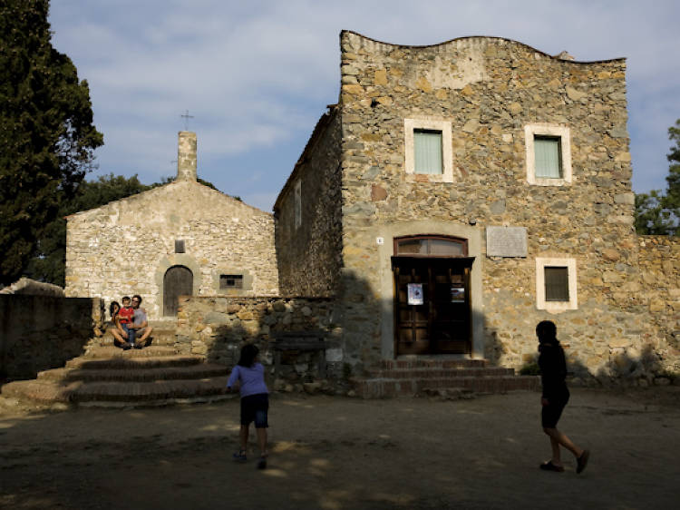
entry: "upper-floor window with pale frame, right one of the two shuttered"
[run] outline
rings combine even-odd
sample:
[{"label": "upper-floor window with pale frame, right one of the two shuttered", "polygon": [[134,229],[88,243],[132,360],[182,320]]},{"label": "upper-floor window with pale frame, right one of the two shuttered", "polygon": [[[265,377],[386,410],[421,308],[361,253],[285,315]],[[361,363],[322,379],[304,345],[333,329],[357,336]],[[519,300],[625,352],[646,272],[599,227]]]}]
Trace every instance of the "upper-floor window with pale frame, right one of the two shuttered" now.
[{"label": "upper-floor window with pale frame, right one of the two shuttered", "polygon": [[539,186],[563,186],[571,182],[569,128],[537,123],[524,126],[527,181]]}]

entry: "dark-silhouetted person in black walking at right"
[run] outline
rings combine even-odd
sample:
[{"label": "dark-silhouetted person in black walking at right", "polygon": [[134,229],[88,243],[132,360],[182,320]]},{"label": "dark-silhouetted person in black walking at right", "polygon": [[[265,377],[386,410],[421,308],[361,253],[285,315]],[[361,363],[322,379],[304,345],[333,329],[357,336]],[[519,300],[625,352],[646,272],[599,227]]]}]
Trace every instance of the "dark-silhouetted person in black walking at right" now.
[{"label": "dark-silhouetted person in black walking at right", "polygon": [[567,448],[577,460],[576,472],[581,473],[588,466],[590,452],[576,446],[564,432],[558,430],[559,417],[567,406],[569,390],[567,378],[567,362],[564,349],[559,345],[558,329],[551,320],[543,320],[536,326],[536,336],[539,337],[539,367],[540,381],[543,393],[540,397],[542,405],[541,424],[543,432],[550,437],[552,457],[540,465],[544,471],[564,471],[559,457],[559,446]]}]

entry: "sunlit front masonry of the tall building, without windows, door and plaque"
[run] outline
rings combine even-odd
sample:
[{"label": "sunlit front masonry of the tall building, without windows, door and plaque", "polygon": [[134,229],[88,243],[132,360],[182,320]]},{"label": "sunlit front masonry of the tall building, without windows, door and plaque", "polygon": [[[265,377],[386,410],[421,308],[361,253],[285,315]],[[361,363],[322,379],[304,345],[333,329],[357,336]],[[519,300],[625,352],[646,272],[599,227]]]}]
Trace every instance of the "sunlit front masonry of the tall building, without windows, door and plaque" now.
[{"label": "sunlit front masonry of the tall building, without windows, door and plaque", "polygon": [[[611,368],[616,347],[607,338],[644,348],[624,60],[561,60],[491,37],[412,47],[350,32],[341,51],[343,259],[345,273],[368,289],[353,312],[364,362],[380,356],[375,311],[392,299],[376,292],[376,237],[386,225],[425,219],[472,225],[481,239],[487,226],[527,229],[526,258],[489,258],[482,247],[475,261],[487,358],[527,362],[541,319],[557,322],[572,364],[590,374]],[[406,174],[405,119],[452,123],[452,182]],[[568,127],[573,181],[529,184],[529,123]],[[577,261],[578,309],[537,309],[537,257]]]}]

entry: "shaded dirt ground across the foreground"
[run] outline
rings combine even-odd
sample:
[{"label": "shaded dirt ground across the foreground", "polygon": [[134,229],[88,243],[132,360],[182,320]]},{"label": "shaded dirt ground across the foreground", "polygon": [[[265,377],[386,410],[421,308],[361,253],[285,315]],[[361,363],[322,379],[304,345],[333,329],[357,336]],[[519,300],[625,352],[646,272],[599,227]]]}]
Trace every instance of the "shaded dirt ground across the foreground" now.
[{"label": "shaded dirt ground across the foreground", "polygon": [[[0,402],[2,508],[672,508],[680,387],[573,388],[588,469],[546,473],[539,394],[272,397],[265,471],[230,457],[238,400],[27,412]],[[251,437],[251,444],[252,444]],[[252,445],[254,446],[254,445]]]}]

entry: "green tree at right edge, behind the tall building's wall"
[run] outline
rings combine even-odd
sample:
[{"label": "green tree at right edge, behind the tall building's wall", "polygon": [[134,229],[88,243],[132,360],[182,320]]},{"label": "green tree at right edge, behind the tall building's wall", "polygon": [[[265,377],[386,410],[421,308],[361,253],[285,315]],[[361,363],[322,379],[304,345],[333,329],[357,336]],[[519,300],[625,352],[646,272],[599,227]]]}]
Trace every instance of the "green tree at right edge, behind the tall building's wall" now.
[{"label": "green tree at right edge, behind the tall building's wall", "polygon": [[652,190],[636,194],[636,231],[639,234],[680,235],[680,119],[668,128],[674,142],[666,158],[670,165],[665,193]]}]

